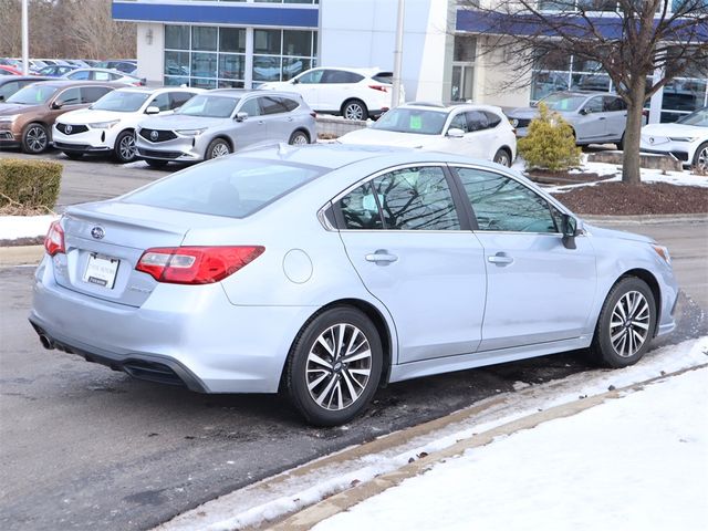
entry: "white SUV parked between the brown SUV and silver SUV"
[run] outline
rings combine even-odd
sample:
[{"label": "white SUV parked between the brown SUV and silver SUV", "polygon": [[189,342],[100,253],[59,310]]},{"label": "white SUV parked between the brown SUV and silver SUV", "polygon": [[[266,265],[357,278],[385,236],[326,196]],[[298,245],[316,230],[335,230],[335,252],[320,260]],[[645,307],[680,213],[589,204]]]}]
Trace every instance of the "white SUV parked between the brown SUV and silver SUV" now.
[{"label": "white SUV parked between the brown SUV and silver SUV", "polygon": [[136,159],[135,128],[148,115],[173,114],[201,88],[131,87],[110,92],[88,108],[63,114],[54,123],[54,147],[69,158],[113,154],[119,163]]}]

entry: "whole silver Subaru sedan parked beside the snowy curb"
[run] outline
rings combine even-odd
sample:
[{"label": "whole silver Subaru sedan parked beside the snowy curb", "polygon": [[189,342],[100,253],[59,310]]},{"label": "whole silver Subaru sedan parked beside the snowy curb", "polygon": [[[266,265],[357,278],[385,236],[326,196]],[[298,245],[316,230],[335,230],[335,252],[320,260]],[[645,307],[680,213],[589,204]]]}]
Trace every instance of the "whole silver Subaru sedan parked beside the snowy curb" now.
[{"label": "whole silver Subaru sedan parked beside the snowy curb", "polygon": [[199,164],[70,207],[45,250],[30,322],[46,348],[282,392],[323,426],[389,382],[575,348],[631,365],[674,329],[678,291],[665,247],[511,169],[374,146]]}]

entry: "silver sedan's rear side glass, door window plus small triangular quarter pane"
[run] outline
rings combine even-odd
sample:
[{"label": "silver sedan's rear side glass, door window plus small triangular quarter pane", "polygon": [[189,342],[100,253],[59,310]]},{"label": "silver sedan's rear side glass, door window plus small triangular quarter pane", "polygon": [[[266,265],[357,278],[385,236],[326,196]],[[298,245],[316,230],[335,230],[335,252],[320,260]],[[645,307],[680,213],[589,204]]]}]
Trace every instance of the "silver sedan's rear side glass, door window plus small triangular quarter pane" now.
[{"label": "silver sedan's rear side glass, door window plus small triangular quarter pane", "polygon": [[347,228],[460,229],[452,194],[439,167],[413,167],[384,174],[342,201],[340,207]]}]

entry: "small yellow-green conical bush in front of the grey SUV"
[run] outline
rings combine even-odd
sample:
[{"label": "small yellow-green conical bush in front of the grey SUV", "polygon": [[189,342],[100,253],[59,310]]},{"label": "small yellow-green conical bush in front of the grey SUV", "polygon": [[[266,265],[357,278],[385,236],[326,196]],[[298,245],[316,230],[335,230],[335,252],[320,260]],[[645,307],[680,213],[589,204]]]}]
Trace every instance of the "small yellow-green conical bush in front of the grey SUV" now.
[{"label": "small yellow-green conical bush in front of the grey SUV", "polygon": [[519,140],[519,154],[527,169],[568,170],[580,166],[581,148],[573,128],[563,117],[541,103],[539,117],[529,124],[529,134]]}]

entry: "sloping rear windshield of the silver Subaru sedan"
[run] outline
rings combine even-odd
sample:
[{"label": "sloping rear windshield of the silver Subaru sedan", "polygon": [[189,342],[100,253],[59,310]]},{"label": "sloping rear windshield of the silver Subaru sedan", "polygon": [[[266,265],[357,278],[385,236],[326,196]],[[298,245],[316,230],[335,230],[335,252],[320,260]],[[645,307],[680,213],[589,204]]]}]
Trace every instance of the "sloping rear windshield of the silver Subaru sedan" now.
[{"label": "sloping rear windshield of the silver Subaru sedan", "polygon": [[202,163],[123,197],[125,202],[244,218],[326,169],[242,157]]}]

